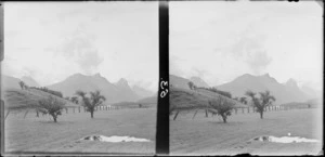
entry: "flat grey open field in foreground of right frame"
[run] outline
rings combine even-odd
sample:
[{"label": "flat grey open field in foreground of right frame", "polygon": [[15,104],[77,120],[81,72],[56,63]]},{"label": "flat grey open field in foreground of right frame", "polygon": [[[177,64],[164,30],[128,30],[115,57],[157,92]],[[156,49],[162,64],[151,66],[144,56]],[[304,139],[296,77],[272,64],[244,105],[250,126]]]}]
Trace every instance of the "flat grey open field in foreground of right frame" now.
[{"label": "flat grey open field in foreground of right frame", "polygon": [[[264,119],[258,113],[233,114],[229,122],[220,117],[207,118],[204,110],[194,119],[194,110],[181,112],[177,120],[170,116],[171,155],[303,155],[322,149],[322,108],[266,112]],[[301,136],[322,143],[271,143],[250,141],[260,135]]]}]

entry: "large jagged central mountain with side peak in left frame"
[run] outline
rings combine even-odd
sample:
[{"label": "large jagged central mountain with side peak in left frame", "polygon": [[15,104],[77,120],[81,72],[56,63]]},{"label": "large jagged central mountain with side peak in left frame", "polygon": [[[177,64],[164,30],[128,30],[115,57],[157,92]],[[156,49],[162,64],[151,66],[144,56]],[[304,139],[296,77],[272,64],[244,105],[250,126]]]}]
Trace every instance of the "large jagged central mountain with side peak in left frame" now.
[{"label": "large jagged central mountain with side peak in left frame", "polygon": [[100,74],[93,76],[75,74],[48,88],[61,91],[64,96],[73,96],[77,90],[86,92],[100,90],[106,97],[106,103],[129,102],[140,99],[140,96],[129,87],[126,79],[120,79],[118,82],[112,83]]}]

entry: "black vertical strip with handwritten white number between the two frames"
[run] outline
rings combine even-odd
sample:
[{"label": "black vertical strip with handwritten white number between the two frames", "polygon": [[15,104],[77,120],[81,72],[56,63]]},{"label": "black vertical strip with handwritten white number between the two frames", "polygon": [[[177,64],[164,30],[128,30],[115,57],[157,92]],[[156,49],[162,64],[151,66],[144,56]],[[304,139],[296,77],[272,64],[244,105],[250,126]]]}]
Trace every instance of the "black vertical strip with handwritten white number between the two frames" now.
[{"label": "black vertical strip with handwritten white number between the two frames", "polygon": [[[156,154],[169,154],[169,8],[168,1],[159,1],[159,91],[156,127]],[[160,96],[161,92],[167,92]]]}]

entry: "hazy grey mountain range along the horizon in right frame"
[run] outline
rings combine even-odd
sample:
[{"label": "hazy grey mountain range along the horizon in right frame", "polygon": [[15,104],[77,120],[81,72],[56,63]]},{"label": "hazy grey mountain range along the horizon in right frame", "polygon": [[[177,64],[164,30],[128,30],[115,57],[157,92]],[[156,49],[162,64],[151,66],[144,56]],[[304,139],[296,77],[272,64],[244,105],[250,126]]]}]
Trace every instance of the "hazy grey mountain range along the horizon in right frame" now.
[{"label": "hazy grey mountain range along the horizon in right frame", "polygon": [[[192,77],[193,78],[193,77]],[[190,89],[187,82],[192,81],[197,87],[207,87],[207,83],[203,79],[199,83],[193,81],[193,79],[186,79],[179,76],[170,75],[170,84],[176,88]],[[283,104],[289,102],[306,102],[310,99],[315,99],[317,95],[313,94],[312,89],[306,91],[302,88],[299,88],[297,81],[289,79],[285,83],[280,83],[275,78],[271,77],[269,74],[261,76],[253,76],[249,74],[242,75],[235,78],[233,81],[216,86],[218,90],[231,92],[233,97],[245,96],[245,92],[251,90],[253,92],[263,92],[269,90],[272,95],[275,96],[276,101],[274,104]],[[304,87],[307,89],[307,87]],[[308,94],[310,93],[310,94]]]}]

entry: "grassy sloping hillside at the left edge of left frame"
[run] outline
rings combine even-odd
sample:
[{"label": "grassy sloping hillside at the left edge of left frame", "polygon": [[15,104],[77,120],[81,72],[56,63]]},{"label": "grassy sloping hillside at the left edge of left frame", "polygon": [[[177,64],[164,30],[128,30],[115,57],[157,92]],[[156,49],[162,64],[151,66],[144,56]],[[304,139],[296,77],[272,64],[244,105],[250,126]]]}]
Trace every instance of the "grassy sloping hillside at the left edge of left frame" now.
[{"label": "grassy sloping hillside at the left edge of left frame", "polygon": [[[15,110],[34,108],[37,106],[38,101],[42,99],[47,99],[49,95],[52,94],[36,89],[29,89],[29,90],[6,89],[2,93],[5,108],[15,109]],[[58,96],[55,95],[52,96],[56,97],[60,101],[65,102],[67,107],[78,106]]]}]

